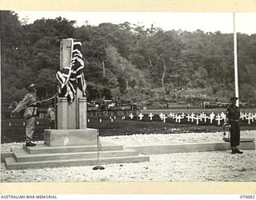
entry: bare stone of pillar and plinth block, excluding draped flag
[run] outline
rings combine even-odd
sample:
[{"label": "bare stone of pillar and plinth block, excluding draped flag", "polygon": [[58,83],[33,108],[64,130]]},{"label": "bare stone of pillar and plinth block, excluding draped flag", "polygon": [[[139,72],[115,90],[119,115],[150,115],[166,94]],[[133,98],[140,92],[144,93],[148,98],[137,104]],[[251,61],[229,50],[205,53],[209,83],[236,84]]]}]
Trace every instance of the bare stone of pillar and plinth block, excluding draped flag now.
[{"label": "bare stone of pillar and plinth block, excluding draped flag", "polygon": [[[60,69],[70,64],[72,39],[60,43]],[[86,98],[77,89],[73,102],[58,98],[58,130],[45,130],[45,144],[48,146],[97,144],[97,130],[87,128]]]}]

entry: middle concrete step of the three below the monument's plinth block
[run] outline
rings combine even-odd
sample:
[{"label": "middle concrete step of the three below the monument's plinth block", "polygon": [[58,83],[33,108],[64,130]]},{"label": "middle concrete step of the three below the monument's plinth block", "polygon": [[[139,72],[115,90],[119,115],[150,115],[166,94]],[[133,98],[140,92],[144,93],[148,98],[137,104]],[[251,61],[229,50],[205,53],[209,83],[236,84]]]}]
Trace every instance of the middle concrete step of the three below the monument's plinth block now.
[{"label": "middle concrete step of the three below the monument's plinth block", "polygon": [[[126,157],[138,155],[138,150],[105,150],[99,151],[99,158]],[[69,159],[98,158],[97,151],[58,153],[58,154],[28,154],[24,149],[14,150],[14,158],[17,162],[57,161]]]}]

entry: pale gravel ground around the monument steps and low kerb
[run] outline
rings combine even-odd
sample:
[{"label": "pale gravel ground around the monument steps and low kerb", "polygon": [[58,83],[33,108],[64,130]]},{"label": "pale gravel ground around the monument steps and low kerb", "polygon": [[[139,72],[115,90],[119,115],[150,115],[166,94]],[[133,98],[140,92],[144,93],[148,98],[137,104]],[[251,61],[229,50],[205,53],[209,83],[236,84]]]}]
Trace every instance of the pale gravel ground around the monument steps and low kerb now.
[{"label": "pale gravel ground around the monument steps and low kerb", "polygon": [[[242,137],[256,138],[256,130],[242,131]],[[135,134],[101,141],[123,146],[214,142],[222,141],[222,133]],[[10,146],[19,148],[22,143],[2,144],[2,152],[10,151]],[[256,150],[243,151],[151,154],[150,162],[102,165],[105,170],[92,170],[93,166],[6,170],[2,164],[1,182],[256,182]]]}]

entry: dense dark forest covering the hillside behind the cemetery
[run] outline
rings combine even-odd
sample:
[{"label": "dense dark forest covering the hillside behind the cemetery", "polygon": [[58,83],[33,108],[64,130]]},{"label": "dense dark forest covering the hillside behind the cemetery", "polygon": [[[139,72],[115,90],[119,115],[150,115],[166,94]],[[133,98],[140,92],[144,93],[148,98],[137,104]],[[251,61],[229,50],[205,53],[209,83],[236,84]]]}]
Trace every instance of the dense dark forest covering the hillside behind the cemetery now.
[{"label": "dense dark forest covering the hillside behind the cemetery", "polygon": [[[3,103],[19,101],[30,82],[38,83],[41,98],[54,94],[62,38],[82,42],[89,101],[227,101],[234,95],[233,34],[74,24],[61,17],[27,24],[1,11]],[[238,34],[238,74],[242,102],[256,102],[256,34]]]}]

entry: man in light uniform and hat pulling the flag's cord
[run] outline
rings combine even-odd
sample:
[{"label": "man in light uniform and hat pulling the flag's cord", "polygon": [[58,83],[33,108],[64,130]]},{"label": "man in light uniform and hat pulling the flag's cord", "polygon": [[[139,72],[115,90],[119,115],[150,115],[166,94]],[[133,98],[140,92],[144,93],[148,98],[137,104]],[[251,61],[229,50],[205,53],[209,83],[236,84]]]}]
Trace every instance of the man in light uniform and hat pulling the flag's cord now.
[{"label": "man in light uniform and hat pulling the flag's cord", "polygon": [[37,115],[38,109],[36,105],[36,85],[34,83],[30,84],[30,86],[27,87],[27,90],[28,94],[26,94],[22,101],[18,103],[16,108],[12,110],[11,116],[18,114],[20,111],[25,109],[24,118],[26,118],[26,146],[36,146],[36,144],[32,142],[35,116]]}]

